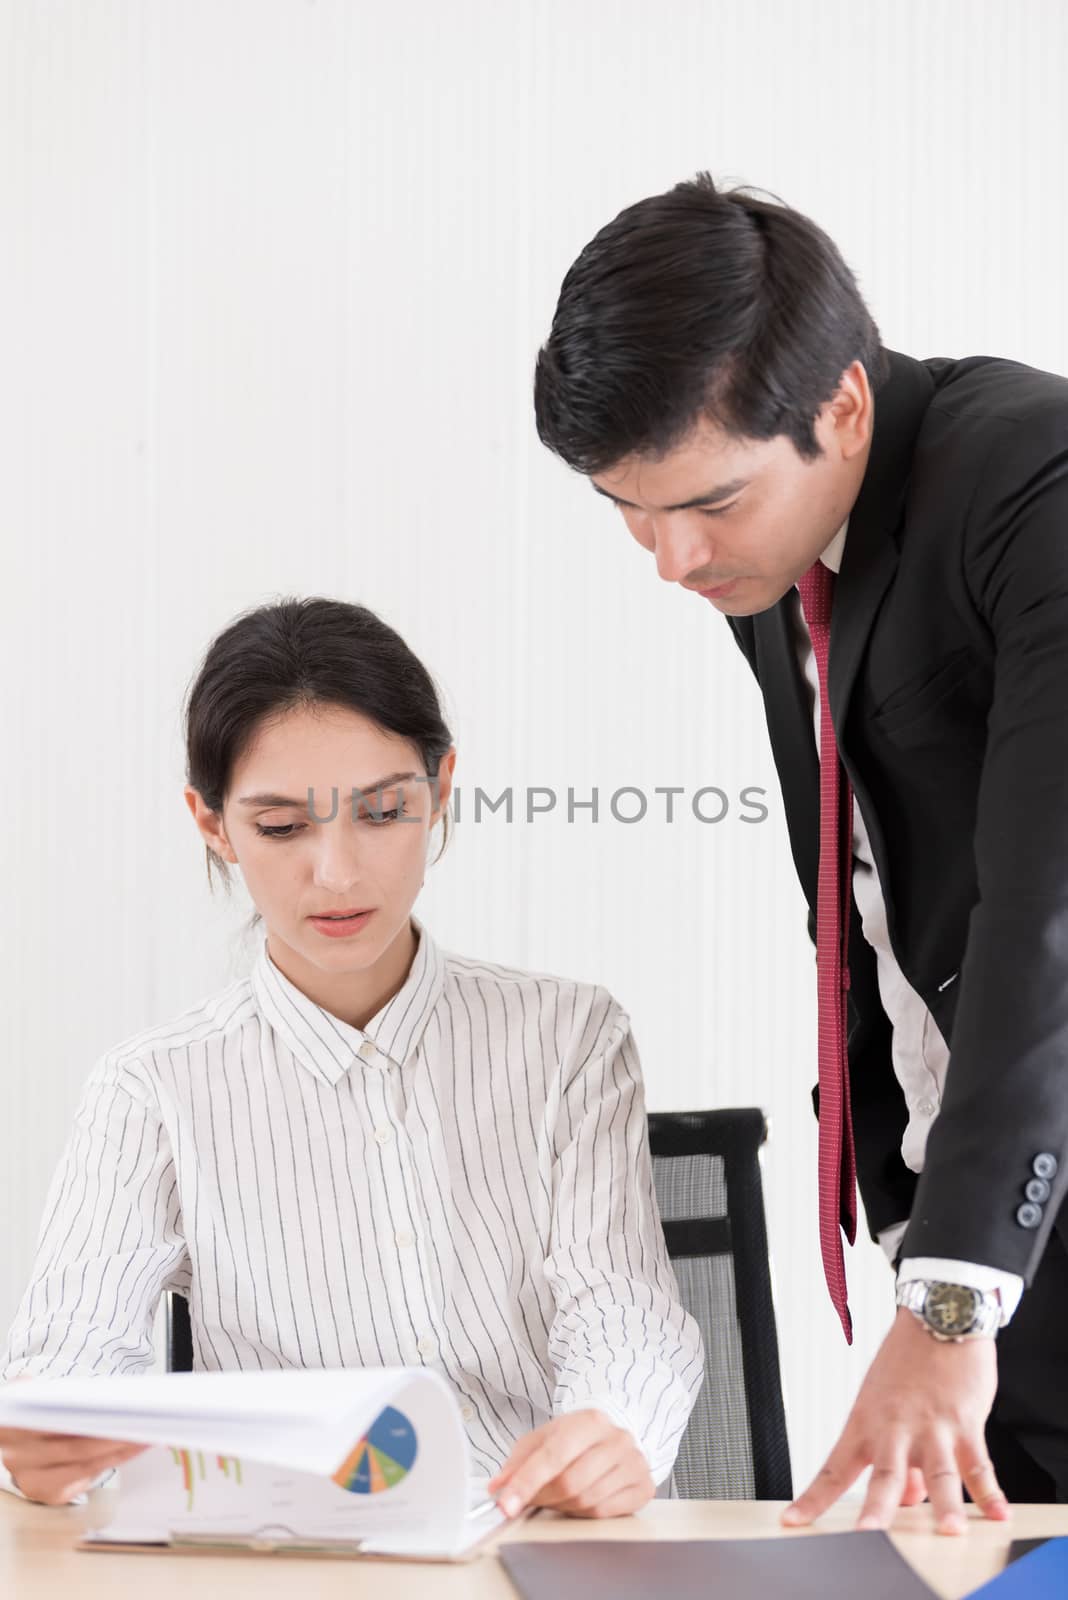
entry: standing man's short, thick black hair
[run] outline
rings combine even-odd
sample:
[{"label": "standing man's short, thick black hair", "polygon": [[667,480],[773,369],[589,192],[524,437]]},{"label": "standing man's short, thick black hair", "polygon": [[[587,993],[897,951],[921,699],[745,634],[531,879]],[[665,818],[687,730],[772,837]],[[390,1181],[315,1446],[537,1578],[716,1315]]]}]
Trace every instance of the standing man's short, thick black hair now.
[{"label": "standing man's short, thick black hair", "polygon": [[812,461],[812,421],[854,360],[876,390],[879,330],[827,234],[697,173],[627,206],[569,269],[534,373],[537,432],[587,475],[662,458],[702,418],[785,434]]}]

